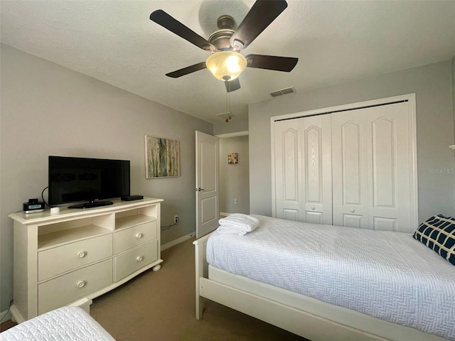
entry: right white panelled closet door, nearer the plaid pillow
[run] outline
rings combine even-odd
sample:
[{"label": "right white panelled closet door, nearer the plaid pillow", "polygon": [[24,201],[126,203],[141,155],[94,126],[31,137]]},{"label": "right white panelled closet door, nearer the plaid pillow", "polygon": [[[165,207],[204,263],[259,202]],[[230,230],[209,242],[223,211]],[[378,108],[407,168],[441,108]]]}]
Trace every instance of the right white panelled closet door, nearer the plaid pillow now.
[{"label": "right white panelled closet door, nearer the plaid pillow", "polygon": [[333,224],[410,232],[407,102],[332,114]]}]

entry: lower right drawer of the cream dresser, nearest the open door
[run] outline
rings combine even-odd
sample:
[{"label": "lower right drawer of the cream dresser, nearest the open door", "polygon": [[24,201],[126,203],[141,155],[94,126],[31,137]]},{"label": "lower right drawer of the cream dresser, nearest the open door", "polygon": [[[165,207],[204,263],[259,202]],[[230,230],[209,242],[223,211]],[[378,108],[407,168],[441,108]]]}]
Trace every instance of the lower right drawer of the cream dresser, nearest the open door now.
[{"label": "lower right drawer of the cream dresser, nearest the open door", "polygon": [[115,257],[115,281],[158,259],[158,241],[154,240]]}]

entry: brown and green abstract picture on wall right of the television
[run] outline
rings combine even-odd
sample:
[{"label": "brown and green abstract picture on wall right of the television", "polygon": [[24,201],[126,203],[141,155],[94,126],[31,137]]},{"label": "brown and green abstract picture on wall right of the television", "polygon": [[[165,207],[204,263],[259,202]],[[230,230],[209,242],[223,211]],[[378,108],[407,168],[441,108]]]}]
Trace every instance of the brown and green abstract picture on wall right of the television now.
[{"label": "brown and green abstract picture on wall right of the television", "polygon": [[145,177],[169,178],[180,176],[178,140],[145,136]]}]

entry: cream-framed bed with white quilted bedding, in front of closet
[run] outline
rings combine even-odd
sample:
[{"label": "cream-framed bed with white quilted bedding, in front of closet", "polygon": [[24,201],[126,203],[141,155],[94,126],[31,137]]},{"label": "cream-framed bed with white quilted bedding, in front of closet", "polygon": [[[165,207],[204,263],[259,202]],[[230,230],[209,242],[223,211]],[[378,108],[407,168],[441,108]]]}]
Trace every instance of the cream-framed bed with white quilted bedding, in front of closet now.
[{"label": "cream-framed bed with white quilted bedding, in front of closet", "polygon": [[313,341],[455,340],[455,267],[411,234],[255,217],[196,240],[197,318],[208,298]]}]

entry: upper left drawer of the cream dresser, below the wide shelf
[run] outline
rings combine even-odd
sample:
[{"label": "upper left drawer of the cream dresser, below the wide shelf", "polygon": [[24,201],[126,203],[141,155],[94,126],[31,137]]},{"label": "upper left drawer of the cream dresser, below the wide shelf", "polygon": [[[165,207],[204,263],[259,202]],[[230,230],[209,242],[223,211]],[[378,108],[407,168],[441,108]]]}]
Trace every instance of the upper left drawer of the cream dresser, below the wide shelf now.
[{"label": "upper left drawer of the cream dresser, below the wide shelf", "polygon": [[112,234],[38,252],[38,281],[112,256]]}]

